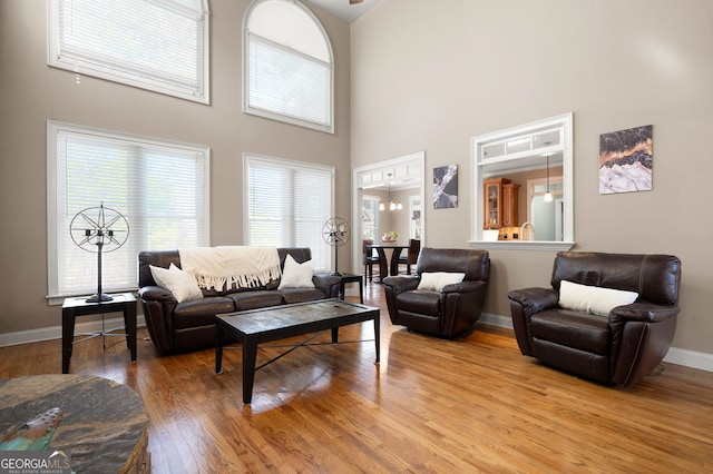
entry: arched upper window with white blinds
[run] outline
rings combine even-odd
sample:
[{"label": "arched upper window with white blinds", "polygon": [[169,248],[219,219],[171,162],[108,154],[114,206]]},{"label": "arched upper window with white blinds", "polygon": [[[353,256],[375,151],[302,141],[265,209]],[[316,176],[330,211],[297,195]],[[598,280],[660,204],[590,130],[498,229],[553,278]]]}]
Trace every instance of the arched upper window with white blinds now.
[{"label": "arched upper window with white blinds", "polygon": [[334,132],[332,47],[293,0],[254,0],[245,14],[243,111]]}]

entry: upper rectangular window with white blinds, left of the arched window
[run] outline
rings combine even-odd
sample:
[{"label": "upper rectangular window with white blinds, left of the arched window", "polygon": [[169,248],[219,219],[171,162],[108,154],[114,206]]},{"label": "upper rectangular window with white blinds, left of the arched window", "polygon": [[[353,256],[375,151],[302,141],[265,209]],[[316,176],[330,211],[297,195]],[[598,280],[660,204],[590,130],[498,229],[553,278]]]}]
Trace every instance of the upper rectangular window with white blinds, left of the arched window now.
[{"label": "upper rectangular window with white blinds, left of the arched window", "polygon": [[206,0],[49,0],[49,66],[209,103]]}]

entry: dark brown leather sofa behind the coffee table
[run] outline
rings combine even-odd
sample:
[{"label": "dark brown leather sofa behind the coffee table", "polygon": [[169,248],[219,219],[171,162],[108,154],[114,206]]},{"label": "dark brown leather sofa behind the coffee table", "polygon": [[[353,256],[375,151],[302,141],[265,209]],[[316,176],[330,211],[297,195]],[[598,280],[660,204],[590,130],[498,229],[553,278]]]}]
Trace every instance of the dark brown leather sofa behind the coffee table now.
[{"label": "dark brown leather sofa behind the coffee table", "polygon": [[[284,268],[287,254],[299,264],[312,258],[311,250],[305,247],[279,248],[277,253],[281,268]],[[169,290],[156,285],[149,268],[149,265],[168,268],[172,263],[180,268],[178,250],[141,251],[138,255],[138,296],[152,342],[160,353],[214,346],[216,314],[339,296],[339,277],[324,274],[314,275],[314,288],[277,289],[280,282],[271,282],[260,288],[221,293],[203,290],[203,298],[177,303]]]}]

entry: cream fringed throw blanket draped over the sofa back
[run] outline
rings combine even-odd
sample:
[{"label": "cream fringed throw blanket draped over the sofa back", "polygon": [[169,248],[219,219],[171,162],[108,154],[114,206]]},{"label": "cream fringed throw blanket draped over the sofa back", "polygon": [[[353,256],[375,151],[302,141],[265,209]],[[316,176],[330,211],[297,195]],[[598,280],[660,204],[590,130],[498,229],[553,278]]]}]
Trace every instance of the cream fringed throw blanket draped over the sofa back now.
[{"label": "cream fringed throw blanket draped over the sofa back", "polygon": [[180,268],[201,288],[217,292],[263,286],[281,276],[275,247],[224,246],[179,248]]}]

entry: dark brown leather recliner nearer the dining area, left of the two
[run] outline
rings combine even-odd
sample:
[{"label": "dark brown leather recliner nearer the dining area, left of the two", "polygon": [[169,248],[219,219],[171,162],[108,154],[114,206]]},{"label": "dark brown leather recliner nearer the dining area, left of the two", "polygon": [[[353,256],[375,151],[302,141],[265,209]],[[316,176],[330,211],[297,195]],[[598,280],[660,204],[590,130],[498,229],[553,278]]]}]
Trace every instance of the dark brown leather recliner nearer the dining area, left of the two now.
[{"label": "dark brown leather recliner nearer the dining area, left of the two", "polygon": [[[424,273],[465,273],[461,283],[440,292],[417,289]],[[480,317],[486,298],[490,256],[486,250],[424,247],[416,264],[416,276],[384,278],[391,323],[420,333],[453,337]]]}]

